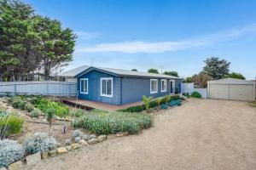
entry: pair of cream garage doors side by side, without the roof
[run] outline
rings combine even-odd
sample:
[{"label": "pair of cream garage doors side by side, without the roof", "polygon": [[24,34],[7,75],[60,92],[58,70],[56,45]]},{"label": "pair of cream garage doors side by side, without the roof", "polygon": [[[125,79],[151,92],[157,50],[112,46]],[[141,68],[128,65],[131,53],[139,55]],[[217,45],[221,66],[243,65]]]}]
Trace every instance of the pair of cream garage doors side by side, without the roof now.
[{"label": "pair of cream garage doors side by side, without the roof", "polygon": [[208,97],[211,99],[253,100],[253,85],[209,84]]}]

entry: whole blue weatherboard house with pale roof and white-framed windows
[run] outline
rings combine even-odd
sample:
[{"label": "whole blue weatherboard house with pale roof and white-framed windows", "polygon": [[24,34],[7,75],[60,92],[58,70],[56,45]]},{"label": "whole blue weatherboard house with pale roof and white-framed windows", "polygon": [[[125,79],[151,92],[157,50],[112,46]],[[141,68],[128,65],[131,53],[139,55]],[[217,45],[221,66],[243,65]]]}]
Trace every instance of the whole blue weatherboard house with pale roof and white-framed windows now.
[{"label": "whole blue weatherboard house with pale roof and white-framed windows", "polygon": [[[72,72],[72,74],[71,74]],[[143,99],[180,93],[181,78],[141,71],[82,66],[61,76],[76,78],[79,99],[125,105]]]}]

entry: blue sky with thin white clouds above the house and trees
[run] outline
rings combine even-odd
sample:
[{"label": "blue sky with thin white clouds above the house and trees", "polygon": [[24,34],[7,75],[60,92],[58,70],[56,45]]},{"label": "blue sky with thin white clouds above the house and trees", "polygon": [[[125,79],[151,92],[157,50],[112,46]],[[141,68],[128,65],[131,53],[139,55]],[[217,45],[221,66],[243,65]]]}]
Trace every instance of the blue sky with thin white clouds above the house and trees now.
[{"label": "blue sky with thin white clouds above the house and trees", "polygon": [[24,0],[78,36],[68,69],[93,65],[177,71],[191,77],[207,57],[256,77],[255,0]]}]

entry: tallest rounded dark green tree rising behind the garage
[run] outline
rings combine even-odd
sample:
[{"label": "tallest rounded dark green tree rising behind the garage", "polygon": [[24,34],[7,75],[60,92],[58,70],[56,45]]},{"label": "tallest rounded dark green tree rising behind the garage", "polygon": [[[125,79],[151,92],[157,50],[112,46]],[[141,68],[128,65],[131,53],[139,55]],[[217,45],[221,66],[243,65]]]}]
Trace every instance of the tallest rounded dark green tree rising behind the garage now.
[{"label": "tallest rounded dark green tree rising behind the garage", "polygon": [[225,75],[229,74],[230,62],[226,59],[218,59],[218,57],[207,58],[204,61],[206,65],[203,71],[214,80],[223,78]]}]

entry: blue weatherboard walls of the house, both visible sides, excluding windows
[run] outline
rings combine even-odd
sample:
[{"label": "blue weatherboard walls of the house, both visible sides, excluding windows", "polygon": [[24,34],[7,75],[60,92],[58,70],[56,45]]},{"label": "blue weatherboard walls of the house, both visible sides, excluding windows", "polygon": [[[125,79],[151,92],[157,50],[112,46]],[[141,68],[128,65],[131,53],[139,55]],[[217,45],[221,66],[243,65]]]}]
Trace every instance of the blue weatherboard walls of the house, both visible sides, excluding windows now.
[{"label": "blue weatherboard walls of the house, both visible sides, excluding windows", "polygon": [[[101,96],[101,78],[113,78],[113,98]],[[80,94],[80,78],[88,78],[88,94]],[[156,79],[156,78],[153,78]],[[150,78],[146,77],[117,77],[102,71],[89,71],[78,77],[79,99],[88,99],[112,105],[124,105],[132,102],[142,101],[143,95],[153,96],[154,98],[170,94],[170,79],[167,82],[166,92],[161,92],[161,80],[157,78],[158,93],[150,94]],[[181,80],[175,80],[175,86],[180,92]]]}]

